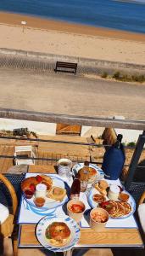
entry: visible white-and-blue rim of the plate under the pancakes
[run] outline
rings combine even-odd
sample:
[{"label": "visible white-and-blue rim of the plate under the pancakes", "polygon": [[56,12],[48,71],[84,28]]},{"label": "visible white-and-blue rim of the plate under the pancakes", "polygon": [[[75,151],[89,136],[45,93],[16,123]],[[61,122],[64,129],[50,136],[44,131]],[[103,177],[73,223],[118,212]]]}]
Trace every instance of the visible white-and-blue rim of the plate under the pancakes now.
[{"label": "visible white-and-blue rim of the plate under the pancakes", "polygon": [[[123,190],[123,192],[125,192],[125,194],[130,195],[127,191]],[[92,189],[87,197],[88,203],[90,205],[90,207],[92,208],[96,208],[98,207],[98,202],[93,201],[93,195],[95,194],[99,194],[97,189]],[[109,201],[109,198],[107,196],[105,196],[106,201]],[[130,195],[129,200],[127,201],[130,205],[131,205],[131,212],[127,215],[124,215],[122,217],[119,217],[117,219],[121,219],[121,218],[128,218],[129,216],[131,216],[135,211],[136,211],[136,202],[134,201],[133,197]],[[111,218],[111,217],[109,217]]]}]

